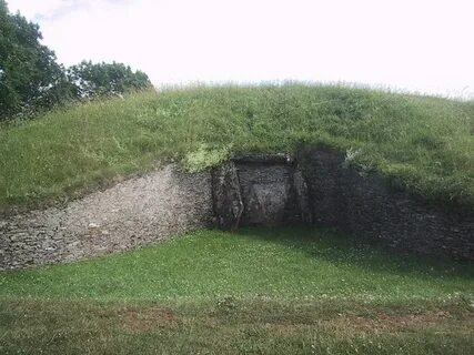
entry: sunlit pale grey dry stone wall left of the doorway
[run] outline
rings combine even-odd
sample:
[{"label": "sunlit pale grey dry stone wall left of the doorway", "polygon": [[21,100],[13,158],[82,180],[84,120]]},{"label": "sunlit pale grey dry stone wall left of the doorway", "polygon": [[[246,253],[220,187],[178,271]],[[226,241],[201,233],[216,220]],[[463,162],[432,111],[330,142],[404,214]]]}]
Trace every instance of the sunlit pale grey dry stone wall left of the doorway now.
[{"label": "sunlit pale grey dry stone wall left of the doorway", "polygon": [[0,268],[121,251],[212,223],[210,173],[167,165],[65,207],[0,216]]}]

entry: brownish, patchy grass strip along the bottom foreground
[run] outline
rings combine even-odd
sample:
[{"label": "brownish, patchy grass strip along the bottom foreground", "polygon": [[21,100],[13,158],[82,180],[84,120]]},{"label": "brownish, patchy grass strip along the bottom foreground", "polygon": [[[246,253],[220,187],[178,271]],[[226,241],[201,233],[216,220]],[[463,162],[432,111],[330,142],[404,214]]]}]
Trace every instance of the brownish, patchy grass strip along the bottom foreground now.
[{"label": "brownish, patchy grass strip along the bottom foreground", "polygon": [[458,354],[463,304],[0,302],[1,354]]}]

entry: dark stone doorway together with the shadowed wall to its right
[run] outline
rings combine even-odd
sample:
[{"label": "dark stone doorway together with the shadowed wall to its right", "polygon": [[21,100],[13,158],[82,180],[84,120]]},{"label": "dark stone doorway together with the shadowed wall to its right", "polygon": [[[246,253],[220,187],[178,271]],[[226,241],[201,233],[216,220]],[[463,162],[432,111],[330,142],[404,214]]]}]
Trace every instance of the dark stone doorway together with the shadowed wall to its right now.
[{"label": "dark stone doorway together with the shadowed wall to its right", "polygon": [[213,204],[222,229],[314,223],[396,250],[474,260],[474,214],[445,211],[376,173],[360,173],[344,154],[307,149],[239,156],[213,173]]}]

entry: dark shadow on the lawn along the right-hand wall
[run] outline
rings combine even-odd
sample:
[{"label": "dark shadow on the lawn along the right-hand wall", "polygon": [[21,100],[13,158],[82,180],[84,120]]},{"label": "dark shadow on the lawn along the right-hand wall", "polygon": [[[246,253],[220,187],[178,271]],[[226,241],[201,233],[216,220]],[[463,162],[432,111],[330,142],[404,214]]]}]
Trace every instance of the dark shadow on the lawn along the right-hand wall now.
[{"label": "dark shadow on the lawn along the right-hand wall", "polygon": [[313,257],[323,258],[336,265],[350,264],[372,271],[411,276],[443,278],[452,276],[474,280],[473,262],[390,250],[382,243],[364,241],[334,229],[310,226],[243,227],[233,233],[297,248]]}]

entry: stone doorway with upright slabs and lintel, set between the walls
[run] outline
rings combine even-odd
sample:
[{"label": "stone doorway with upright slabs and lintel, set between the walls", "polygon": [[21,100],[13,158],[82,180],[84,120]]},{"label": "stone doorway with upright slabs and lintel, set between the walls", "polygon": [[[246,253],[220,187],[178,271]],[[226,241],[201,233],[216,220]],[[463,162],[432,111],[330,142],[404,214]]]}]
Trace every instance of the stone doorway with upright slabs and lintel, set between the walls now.
[{"label": "stone doorway with upright slabs and lintel, set between the walls", "polygon": [[[302,209],[307,210],[302,174],[284,155],[239,158],[215,171],[213,183],[214,212],[223,229],[297,223]],[[232,213],[233,205],[242,211]]]}]

